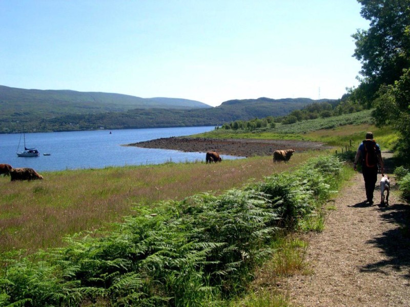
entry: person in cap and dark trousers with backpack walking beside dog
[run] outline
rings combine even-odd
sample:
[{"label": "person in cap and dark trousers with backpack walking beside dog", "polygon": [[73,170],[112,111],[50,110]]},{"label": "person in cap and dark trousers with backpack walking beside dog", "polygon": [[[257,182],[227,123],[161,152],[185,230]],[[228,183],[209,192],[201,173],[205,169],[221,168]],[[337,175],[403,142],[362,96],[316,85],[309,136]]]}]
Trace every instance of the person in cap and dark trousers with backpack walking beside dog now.
[{"label": "person in cap and dark trousers with backpack walking beside dog", "polygon": [[373,139],[373,133],[366,133],[366,139],[360,143],[357,149],[353,169],[357,170],[357,163],[361,163],[362,174],[364,179],[364,188],[366,189],[366,199],[370,205],[373,205],[373,193],[377,182],[377,172],[380,165],[380,171],[384,173],[384,163],[381,157],[379,144]]}]

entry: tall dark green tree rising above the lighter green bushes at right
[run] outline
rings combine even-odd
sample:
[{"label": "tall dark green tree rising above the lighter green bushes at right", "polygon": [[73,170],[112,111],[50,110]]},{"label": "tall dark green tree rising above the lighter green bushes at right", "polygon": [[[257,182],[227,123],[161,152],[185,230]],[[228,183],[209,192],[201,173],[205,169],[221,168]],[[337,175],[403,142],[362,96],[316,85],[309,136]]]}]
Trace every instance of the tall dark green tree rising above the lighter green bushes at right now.
[{"label": "tall dark green tree rising above the lighter green bushes at right", "polygon": [[410,68],[410,0],[358,0],[370,28],[357,30],[354,56],[363,76],[355,96],[368,105],[380,85],[394,84]]}]

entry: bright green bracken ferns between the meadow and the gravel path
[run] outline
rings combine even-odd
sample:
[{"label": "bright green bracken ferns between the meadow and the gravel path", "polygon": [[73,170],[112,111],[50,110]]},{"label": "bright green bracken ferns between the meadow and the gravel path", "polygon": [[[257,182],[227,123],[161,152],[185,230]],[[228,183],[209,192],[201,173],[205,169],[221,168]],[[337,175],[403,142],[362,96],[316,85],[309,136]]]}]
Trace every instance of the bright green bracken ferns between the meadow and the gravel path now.
[{"label": "bright green bracken ferns between the meadow and the gravel path", "polygon": [[[69,236],[66,247],[28,257],[6,253],[0,305],[220,305],[275,253],[276,233],[298,227],[324,202],[340,166],[336,157],[319,157],[293,173],[297,184],[289,190],[268,177],[138,207],[109,233]],[[314,182],[320,188],[310,183],[313,176],[322,177]]]}]

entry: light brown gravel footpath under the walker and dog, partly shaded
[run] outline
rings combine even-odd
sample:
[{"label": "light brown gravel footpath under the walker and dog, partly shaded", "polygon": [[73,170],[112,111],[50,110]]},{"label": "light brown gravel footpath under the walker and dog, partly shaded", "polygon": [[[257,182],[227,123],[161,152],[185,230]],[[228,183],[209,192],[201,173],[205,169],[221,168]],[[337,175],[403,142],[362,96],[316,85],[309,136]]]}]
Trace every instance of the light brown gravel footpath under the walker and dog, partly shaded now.
[{"label": "light brown gravel footpath under the walker and dog, partly shaded", "polygon": [[[383,152],[386,173],[391,154]],[[378,175],[380,180],[381,175]],[[392,176],[391,176],[392,180]],[[296,306],[410,306],[410,206],[391,183],[389,206],[364,204],[361,173],[339,192],[325,229],[310,234],[307,260],[312,275],[287,278],[282,289]]]}]

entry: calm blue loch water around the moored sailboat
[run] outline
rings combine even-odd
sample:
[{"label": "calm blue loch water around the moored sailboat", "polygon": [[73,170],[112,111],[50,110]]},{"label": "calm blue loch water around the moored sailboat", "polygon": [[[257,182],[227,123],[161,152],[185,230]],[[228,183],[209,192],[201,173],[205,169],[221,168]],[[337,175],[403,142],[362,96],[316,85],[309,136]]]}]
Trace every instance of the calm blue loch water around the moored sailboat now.
[{"label": "calm blue loch water around the moored sailboat", "polygon": [[[124,129],[26,134],[26,146],[36,147],[39,157],[17,157],[19,134],[0,134],[0,163],[31,167],[37,171],[107,166],[160,164],[164,162],[204,161],[203,152],[180,152],[121,146],[158,138],[187,136],[211,131],[214,126],[155,129]],[[23,150],[23,138],[18,151]],[[50,156],[43,156],[50,153]],[[176,154],[177,153],[177,154]],[[236,159],[222,156],[223,159]]]}]

